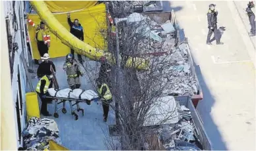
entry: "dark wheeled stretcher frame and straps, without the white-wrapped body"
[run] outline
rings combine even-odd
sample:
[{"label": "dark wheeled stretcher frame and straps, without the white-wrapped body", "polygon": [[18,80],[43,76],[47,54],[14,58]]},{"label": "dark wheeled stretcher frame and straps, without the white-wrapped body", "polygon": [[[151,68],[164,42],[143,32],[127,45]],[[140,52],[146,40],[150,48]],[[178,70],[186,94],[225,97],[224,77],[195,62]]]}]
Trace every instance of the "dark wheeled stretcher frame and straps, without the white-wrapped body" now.
[{"label": "dark wheeled stretcher frame and straps, without the white-wrapped body", "polygon": [[[85,102],[86,104],[90,105],[90,102],[92,101],[97,101],[98,100],[98,95],[95,95],[95,97],[90,97],[88,98],[81,98],[81,95],[86,92],[86,91],[82,91],[82,93],[80,93],[79,98],[71,98],[71,93],[73,91],[69,91],[68,97],[57,97],[57,92],[60,90],[57,90],[55,95],[53,96],[51,93],[49,93],[48,96],[46,96],[46,98],[51,98],[52,100],[55,100],[55,110],[54,110],[54,118],[59,118],[59,114],[58,111],[61,110],[61,112],[63,114],[67,113],[67,109],[66,109],[66,102],[69,101],[69,106],[71,108],[71,115],[75,117],[75,120],[79,119],[79,115],[77,112],[82,112],[82,116],[84,116],[84,109],[80,108],[79,103],[80,102]],[[91,90],[89,90],[91,91]],[[51,95],[50,95],[51,94]],[[62,104],[62,106],[60,108],[58,108],[58,105]],[[76,108],[74,107],[76,106]]]}]

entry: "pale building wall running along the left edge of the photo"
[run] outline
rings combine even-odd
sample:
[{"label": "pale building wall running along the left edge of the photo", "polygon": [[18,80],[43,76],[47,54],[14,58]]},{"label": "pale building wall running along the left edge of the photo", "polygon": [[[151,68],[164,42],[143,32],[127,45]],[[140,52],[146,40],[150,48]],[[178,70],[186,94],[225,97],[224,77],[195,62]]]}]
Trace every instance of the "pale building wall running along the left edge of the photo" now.
[{"label": "pale building wall running along the left edge of the photo", "polygon": [[[3,8],[3,9],[2,9]],[[26,127],[26,73],[20,55],[24,56],[25,62],[28,62],[28,51],[26,48],[26,37],[24,37],[24,2],[23,1],[1,1],[1,22],[4,26],[1,28],[1,118],[4,117],[5,121],[1,119],[1,150],[17,150],[22,146],[21,133],[18,133],[18,122],[20,122],[20,130]],[[16,22],[14,21],[16,14]],[[18,49],[15,51],[15,58],[13,60],[13,77],[11,80],[10,64],[9,64],[9,48],[7,44],[7,28],[5,20],[10,20],[10,33],[13,37],[13,43],[17,43]],[[14,22],[14,24],[13,24]],[[15,30],[16,29],[16,30]],[[5,56],[3,55],[5,54]],[[2,58],[4,58],[2,60]],[[18,80],[18,73],[20,80]],[[5,82],[4,83],[2,83]],[[20,88],[18,83],[20,83]],[[3,97],[3,94],[5,98]],[[16,104],[18,102],[18,104]],[[18,106],[16,106],[18,105]],[[19,108],[18,113],[16,108]],[[18,119],[18,115],[20,119]],[[19,139],[20,134],[20,139]]]}]

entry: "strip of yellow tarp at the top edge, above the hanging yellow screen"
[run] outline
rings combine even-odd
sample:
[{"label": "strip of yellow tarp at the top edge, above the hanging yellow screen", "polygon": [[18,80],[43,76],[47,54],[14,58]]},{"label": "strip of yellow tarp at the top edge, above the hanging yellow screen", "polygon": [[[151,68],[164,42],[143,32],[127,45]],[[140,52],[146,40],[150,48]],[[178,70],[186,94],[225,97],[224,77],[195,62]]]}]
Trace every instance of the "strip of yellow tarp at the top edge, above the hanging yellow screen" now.
[{"label": "strip of yellow tarp at the top edge, above the hanging yellow screen", "polygon": [[[51,12],[70,12],[80,9],[88,9],[96,5],[98,1],[44,1]],[[79,5],[77,5],[79,4]]]}]

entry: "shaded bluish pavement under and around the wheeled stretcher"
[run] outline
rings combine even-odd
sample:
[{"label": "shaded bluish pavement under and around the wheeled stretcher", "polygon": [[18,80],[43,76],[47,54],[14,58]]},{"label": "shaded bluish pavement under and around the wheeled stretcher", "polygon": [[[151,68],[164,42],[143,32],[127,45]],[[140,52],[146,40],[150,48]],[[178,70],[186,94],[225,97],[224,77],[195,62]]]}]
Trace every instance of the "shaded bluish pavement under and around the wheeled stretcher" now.
[{"label": "shaded bluish pavement under and around the wheeled stretcher", "polygon": [[[55,66],[56,66],[56,77],[59,83],[59,89],[66,89],[69,87],[67,85],[67,76],[63,71],[63,62],[65,61],[64,57],[61,58],[52,58]],[[88,61],[88,64],[84,65],[87,70],[92,68],[92,71],[96,70],[96,62]],[[33,69],[36,72],[38,65],[31,64],[30,69]],[[90,70],[91,71],[91,70]],[[98,72],[90,73],[90,77],[92,75],[96,75]],[[32,76],[36,76],[36,74],[32,74]],[[81,87],[83,90],[94,90],[91,79],[88,78],[86,74],[85,77],[81,77]],[[32,83],[34,87],[38,83],[38,79],[32,79]],[[39,102],[40,99],[39,99]],[[73,102],[74,103],[74,102]],[[59,104],[59,108],[62,104]],[[110,109],[109,118],[107,123],[105,123],[102,119],[102,105],[96,104],[96,102],[92,102],[90,106],[85,103],[80,103],[80,107],[84,109],[84,116],[79,113],[79,119],[75,121],[74,117],[71,116],[71,108],[69,103],[66,103],[67,114],[63,114],[61,110],[59,110],[59,118],[47,117],[50,119],[54,119],[57,122],[59,128],[59,136],[61,137],[62,145],[69,150],[108,150],[106,147],[106,140],[108,140],[108,125],[115,123],[115,115],[112,109]],[[54,113],[54,104],[48,104],[48,111],[53,114]],[[41,118],[46,118],[41,116]]]}]

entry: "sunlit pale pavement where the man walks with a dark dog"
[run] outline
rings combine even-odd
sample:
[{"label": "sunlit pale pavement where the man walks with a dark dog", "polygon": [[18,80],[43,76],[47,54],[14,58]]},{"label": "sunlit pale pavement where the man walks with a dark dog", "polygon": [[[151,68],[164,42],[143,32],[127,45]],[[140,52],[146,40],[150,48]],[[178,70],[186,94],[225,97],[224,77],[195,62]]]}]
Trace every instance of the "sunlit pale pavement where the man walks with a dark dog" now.
[{"label": "sunlit pale pavement where the man walks with a dark dog", "polygon": [[[224,45],[206,45],[208,5],[216,4]],[[255,150],[255,69],[232,1],[171,1],[189,38],[204,100],[198,106],[214,150]],[[246,7],[246,6],[245,6]],[[241,18],[240,18],[241,21]],[[252,46],[251,46],[252,47]]]}]

